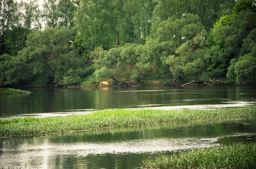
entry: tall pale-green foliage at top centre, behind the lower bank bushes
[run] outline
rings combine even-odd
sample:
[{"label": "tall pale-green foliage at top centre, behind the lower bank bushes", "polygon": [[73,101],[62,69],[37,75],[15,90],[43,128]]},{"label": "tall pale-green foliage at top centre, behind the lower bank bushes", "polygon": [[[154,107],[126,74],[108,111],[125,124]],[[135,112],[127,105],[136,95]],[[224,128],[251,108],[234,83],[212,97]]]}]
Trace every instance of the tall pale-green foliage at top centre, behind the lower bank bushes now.
[{"label": "tall pale-green foliage at top centre, behind the lower bank bushes", "polygon": [[[144,43],[150,33],[152,0],[82,0],[76,24],[85,51],[104,50],[126,43]],[[88,25],[88,26],[84,26]]]}]

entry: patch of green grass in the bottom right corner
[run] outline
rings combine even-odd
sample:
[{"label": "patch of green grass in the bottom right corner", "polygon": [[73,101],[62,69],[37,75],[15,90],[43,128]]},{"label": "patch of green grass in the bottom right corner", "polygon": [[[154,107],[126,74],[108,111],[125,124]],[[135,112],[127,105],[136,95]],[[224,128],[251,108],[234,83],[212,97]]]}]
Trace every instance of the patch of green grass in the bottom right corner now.
[{"label": "patch of green grass in the bottom right corner", "polygon": [[201,148],[142,162],[141,169],[255,169],[256,144]]}]

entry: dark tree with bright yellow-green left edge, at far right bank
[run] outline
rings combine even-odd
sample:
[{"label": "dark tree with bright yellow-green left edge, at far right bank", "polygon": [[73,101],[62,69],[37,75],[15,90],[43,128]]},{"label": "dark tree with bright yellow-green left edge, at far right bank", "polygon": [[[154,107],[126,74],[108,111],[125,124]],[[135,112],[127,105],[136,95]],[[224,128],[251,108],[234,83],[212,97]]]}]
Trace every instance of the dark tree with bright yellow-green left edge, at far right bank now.
[{"label": "dark tree with bright yellow-green left edge, at far right bank", "polygon": [[[212,48],[218,48],[218,69],[229,67],[231,59],[238,59],[244,39],[256,26],[256,13],[241,11],[239,15],[233,15],[225,24],[217,24],[210,33],[209,42]],[[215,46],[215,47],[214,47]],[[217,68],[216,67],[216,68]]]}]

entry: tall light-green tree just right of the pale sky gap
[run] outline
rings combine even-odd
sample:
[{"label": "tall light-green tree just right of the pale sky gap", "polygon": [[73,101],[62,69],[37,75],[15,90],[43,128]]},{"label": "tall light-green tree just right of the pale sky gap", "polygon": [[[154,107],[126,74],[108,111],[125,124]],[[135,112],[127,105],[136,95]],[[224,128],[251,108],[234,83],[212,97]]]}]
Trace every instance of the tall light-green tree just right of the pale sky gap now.
[{"label": "tall light-green tree just right of the pale sky gap", "polygon": [[90,53],[94,48],[109,49],[115,45],[116,24],[113,1],[82,0],[76,12],[76,24],[83,36],[83,48]]}]

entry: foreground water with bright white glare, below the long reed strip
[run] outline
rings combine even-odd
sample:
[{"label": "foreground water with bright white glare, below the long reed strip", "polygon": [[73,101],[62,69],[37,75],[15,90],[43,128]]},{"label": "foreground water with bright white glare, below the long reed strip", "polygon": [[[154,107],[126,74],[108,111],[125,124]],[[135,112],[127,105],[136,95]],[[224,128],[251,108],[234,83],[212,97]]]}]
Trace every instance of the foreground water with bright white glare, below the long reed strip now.
[{"label": "foreground water with bright white glare, below the long reed strip", "polygon": [[256,141],[256,122],[173,123],[1,138],[0,167],[130,169],[150,156],[240,141]]}]

